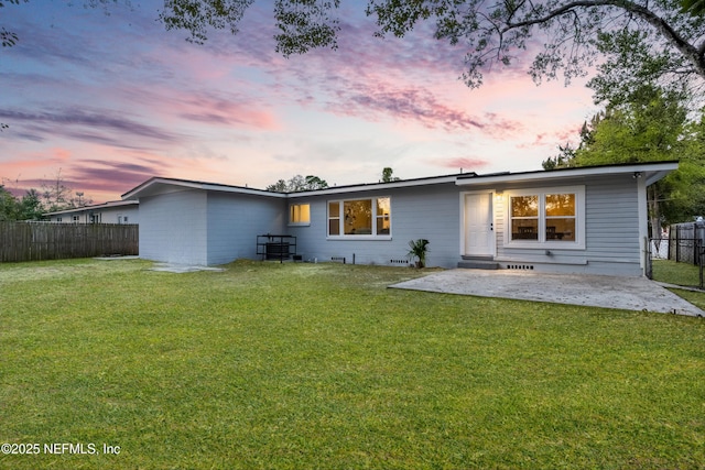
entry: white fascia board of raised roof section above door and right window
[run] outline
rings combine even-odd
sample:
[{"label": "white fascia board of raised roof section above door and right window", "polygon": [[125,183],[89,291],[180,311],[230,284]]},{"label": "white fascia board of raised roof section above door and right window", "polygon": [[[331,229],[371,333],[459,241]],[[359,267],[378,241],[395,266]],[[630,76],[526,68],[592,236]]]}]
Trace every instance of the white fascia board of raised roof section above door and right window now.
[{"label": "white fascia board of raised roof section above door and right window", "polygon": [[658,182],[670,172],[677,170],[679,164],[674,162],[657,163],[657,164],[633,164],[633,165],[616,165],[616,166],[596,166],[596,167],[582,167],[571,170],[554,170],[544,172],[531,172],[531,173],[516,173],[497,176],[476,176],[470,178],[458,178],[456,185],[458,186],[473,186],[473,185],[487,185],[496,183],[524,183],[524,182],[540,182],[540,181],[555,181],[576,177],[589,177],[589,176],[605,176],[626,173],[641,173],[647,177],[647,184]]}]

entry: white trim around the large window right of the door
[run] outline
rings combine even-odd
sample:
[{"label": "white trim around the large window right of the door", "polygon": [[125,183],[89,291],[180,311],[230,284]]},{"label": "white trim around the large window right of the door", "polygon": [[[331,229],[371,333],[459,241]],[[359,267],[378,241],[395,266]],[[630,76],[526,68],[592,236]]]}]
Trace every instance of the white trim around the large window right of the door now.
[{"label": "white trim around the large window right of the door", "polygon": [[[546,240],[545,195],[575,195],[575,241]],[[539,196],[539,240],[511,239],[511,197]],[[552,250],[585,250],[585,186],[553,186],[532,189],[512,189],[505,192],[505,248],[529,248]]]}]

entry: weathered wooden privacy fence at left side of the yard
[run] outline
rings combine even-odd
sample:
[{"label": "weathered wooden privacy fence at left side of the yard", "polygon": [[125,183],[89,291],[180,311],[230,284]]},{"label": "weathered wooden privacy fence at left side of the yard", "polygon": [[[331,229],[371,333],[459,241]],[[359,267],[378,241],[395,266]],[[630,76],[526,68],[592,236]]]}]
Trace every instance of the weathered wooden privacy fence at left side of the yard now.
[{"label": "weathered wooden privacy fence at left side of the yard", "polygon": [[139,226],[0,222],[0,262],[139,254]]}]

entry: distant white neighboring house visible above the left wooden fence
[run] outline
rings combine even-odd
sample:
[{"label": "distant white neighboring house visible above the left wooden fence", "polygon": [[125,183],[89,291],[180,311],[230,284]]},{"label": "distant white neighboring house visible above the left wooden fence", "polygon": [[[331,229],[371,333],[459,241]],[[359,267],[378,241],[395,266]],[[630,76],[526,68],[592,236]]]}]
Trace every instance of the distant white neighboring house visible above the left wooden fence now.
[{"label": "distant white neighboring house visible above the left wooden fence", "polygon": [[47,212],[50,221],[57,223],[139,223],[140,203],[111,200],[104,204]]}]

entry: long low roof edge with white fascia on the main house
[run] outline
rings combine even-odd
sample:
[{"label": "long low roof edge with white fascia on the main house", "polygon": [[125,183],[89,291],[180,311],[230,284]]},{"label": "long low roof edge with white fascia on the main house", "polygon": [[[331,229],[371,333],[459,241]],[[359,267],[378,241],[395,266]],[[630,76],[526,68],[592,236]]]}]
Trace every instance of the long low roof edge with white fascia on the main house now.
[{"label": "long low roof edge with white fascia on the main house", "polygon": [[346,186],[333,186],[324,189],[315,189],[300,193],[278,193],[265,189],[253,189],[242,186],[223,185],[217,183],[206,183],[189,179],[152,177],[141,185],[130,189],[122,195],[123,200],[137,200],[140,197],[154,196],[183,189],[204,189],[224,193],[249,194],[259,196],[270,196],[279,198],[297,198],[314,194],[344,194],[360,190],[427,186],[441,183],[455,183],[458,186],[486,185],[494,183],[523,183],[532,181],[552,181],[561,178],[592,177],[610,174],[628,174],[643,176],[647,185],[658,182],[669,172],[677,170],[677,162],[655,162],[655,163],[628,163],[617,165],[584,166],[577,168],[560,168],[552,171],[534,171],[521,173],[492,173],[478,175],[475,172],[459,173],[444,176],[430,176],[423,178],[399,179],[389,183],[369,183]]}]

